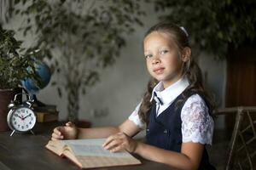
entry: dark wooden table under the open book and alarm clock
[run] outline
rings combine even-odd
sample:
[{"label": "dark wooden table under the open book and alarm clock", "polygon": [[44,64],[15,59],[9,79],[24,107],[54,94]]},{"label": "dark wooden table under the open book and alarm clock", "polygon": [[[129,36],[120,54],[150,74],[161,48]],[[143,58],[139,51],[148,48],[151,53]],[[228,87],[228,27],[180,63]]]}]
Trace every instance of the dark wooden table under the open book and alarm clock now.
[{"label": "dark wooden table under the open book and alarm clock", "polygon": [[[50,139],[52,130],[61,122],[38,123],[34,128],[35,135],[31,133],[15,133],[12,137],[9,132],[0,132],[0,169],[1,170],[48,170],[48,169],[79,169],[71,161],[55,156],[44,145]],[[127,167],[108,167],[99,169],[124,169],[124,170],[143,170],[143,169],[173,169],[164,164],[154,161],[147,161],[141,157],[143,164],[139,166]]]}]

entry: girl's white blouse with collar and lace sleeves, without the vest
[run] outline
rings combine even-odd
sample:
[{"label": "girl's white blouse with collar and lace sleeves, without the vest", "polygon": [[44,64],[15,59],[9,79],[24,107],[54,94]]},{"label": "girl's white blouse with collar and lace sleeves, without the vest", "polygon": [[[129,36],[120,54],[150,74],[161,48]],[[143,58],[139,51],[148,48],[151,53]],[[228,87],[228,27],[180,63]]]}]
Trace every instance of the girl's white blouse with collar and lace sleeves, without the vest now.
[{"label": "girl's white blouse with collar and lace sleeves, without the vest", "polygon": [[[186,77],[181,78],[166,89],[164,89],[162,82],[159,82],[154,87],[151,98],[155,99],[154,94],[158,97],[158,99],[155,99],[157,116],[165,111],[166,108],[172,104],[174,99],[176,99],[179,94],[182,94],[183,90],[188,86],[189,81]],[[145,123],[143,123],[138,116],[140,105],[141,103],[139,103],[136,109],[131,113],[129,120],[134,122],[141,129],[144,129],[146,127]],[[181,110],[181,121],[183,143],[194,142],[212,144],[214,124],[212,116],[209,115],[207,105],[200,95],[194,94],[186,100]]]}]

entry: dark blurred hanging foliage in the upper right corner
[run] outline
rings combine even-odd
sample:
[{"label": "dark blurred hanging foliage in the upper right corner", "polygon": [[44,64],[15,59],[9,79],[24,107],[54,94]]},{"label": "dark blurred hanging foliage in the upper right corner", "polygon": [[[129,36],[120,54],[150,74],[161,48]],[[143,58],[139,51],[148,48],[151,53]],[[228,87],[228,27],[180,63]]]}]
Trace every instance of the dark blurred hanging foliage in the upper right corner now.
[{"label": "dark blurred hanging foliage in the upper right corner", "polygon": [[160,20],[172,20],[189,31],[197,51],[224,59],[228,48],[237,48],[256,37],[256,1],[154,0]]}]

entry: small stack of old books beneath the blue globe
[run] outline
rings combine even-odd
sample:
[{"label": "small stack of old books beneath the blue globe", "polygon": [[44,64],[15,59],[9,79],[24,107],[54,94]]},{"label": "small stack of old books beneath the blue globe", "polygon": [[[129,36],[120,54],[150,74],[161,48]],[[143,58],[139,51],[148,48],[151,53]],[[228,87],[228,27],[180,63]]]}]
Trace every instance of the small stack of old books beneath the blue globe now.
[{"label": "small stack of old books beneath the blue globe", "polygon": [[36,106],[33,110],[37,115],[37,122],[58,121],[59,111],[56,110],[56,105]]}]

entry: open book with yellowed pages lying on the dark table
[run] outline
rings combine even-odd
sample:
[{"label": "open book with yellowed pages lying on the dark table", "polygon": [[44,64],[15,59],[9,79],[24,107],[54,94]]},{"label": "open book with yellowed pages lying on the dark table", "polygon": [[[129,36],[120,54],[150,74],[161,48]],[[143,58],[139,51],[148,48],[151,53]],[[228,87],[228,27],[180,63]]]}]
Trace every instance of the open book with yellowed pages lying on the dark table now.
[{"label": "open book with yellowed pages lying on the dark table", "polygon": [[49,140],[45,147],[67,157],[80,168],[113,167],[141,164],[127,151],[110,152],[102,148],[105,139]]}]

